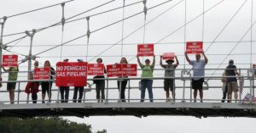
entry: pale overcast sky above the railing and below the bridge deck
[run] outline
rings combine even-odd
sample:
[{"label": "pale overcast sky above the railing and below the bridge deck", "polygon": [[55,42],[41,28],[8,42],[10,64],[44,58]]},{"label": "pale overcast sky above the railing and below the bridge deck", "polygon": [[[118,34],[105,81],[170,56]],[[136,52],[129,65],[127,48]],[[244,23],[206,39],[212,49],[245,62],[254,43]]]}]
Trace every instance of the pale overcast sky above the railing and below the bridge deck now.
[{"label": "pale overcast sky above the railing and below the bridge deck", "polygon": [[[139,0],[125,0],[125,4],[135,3]],[[109,48],[106,52],[100,55],[103,58],[105,64],[114,64],[119,62],[119,59],[123,56],[130,60],[130,63],[137,63],[134,56],[137,54],[137,44],[143,43],[143,36],[145,42],[156,43],[154,46],[155,54],[157,55],[157,63],[159,63],[159,56],[162,53],[174,52],[180,60],[181,65],[178,69],[183,69],[184,64],[184,37],[186,42],[188,41],[203,41],[204,49],[211,46],[207,51],[209,58],[209,64],[207,69],[216,69],[219,64],[224,62],[220,68],[224,68],[230,58],[235,59],[235,64],[238,64],[238,68],[249,68],[250,64],[256,64],[256,47],[255,42],[251,45],[251,32],[245,33],[251,27],[251,6],[252,1],[247,0],[247,3],[243,5],[241,10],[236,14],[236,17],[230,21],[230,24],[223,30],[225,25],[229,22],[232,16],[236,13],[238,8],[246,0],[225,0],[219,4],[216,8],[212,8],[204,15],[204,23],[202,15],[195,19],[193,22],[186,26],[186,36],[184,36],[184,28],[180,28],[184,24],[184,8],[185,4],[182,0],[172,0],[170,3],[166,3],[158,8],[148,10],[147,21],[154,19],[159,14],[162,14],[168,8],[171,8],[175,4],[174,8],[168,10],[165,14],[160,15],[158,19],[154,19],[148,23],[143,34],[143,28],[127,37],[124,40],[124,45],[119,42],[122,38],[122,23],[110,26],[106,29],[96,31],[90,35],[90,43],[87,53],[87,38],[83,37],[77,41],[68,43],[69,46],[64,46],[62,51],[62,58],[70,58],[71,61],[76,61],[77,58],[83,58],[90,63],[96,62],[96,55],[102,53],[108,47],[113,46],[116,42],[118,45]],[[54,3],[64,2],[62,0],[1,0],[0,1],[0,17],[10,16],[12,14],[19,14],[35,8],[41,8]],[[72,3],[65,5],[65,17],[71,17],[75,14],[79,14],[94,8],[97,5],[108,2],[107,0],[75,0]],[[165,2],[165,0],[148,0],[147,7],[150,8],[156,4]],[[180,3],[179,3],[180,2]],[[187,0],[187,22],[200,15],[203,11],[203,0]],[[205,10],[211,8],[214,4],[221,2],[221,0],[205,0]],[[85,17],[91,14],[100,13],[102,11],[117,8],[123,5],[123,0],[116,0],[113,3],[109,3],[102,8],[90,11],[74,19]],[[253,22],[256,20],[256,3],[253,4]],[[143,3],[139,3],[135,6],[125,8],[125,17],[132,14],[143,11]],[[123,10],[119,9],[108,14],[101,14],[95,17],[90,17],[90,31],[97,30],[105,25],[111,24],[119,19],[122,19]],[[61,5],[54,8],[47,8],[31,14],[23,14],[14,18],[9,18],[6,21],[3,35],[17,33],[25,30],[32,30],[42,28],[48,25],[55,24],[61,20]],[[2,19],[0,20],[2,22]],[[139,14],[131,19],[127,19],[124,22],[124,37],[131,34],[134,30],[137,30],[144,24],[144,14]],[[177,31],[175,31],[177,30]],[[221,32],[223,30],[223,32]],[[175,32],[174,32],[175,31]],[[87,32],[86,19],[79,20],[73,23],[66,24],[63,32],[63,42],[72,40],[75,37],[82,36]],[[171,34],[171,36],[165,36]],[[221,34],[219,34],[221,32]],[[255,26],[253,26],[253,40]],[[204,33],[204,34],[202,34]],[[219,36],[218,36],[219,34]],[[25,36],[25,34],[17,36],[3,37],[3,43],[10,42]],[[243,39],[241,39],[241,37]],[[243,41],[237,45],[237,47],[230,53],[231,49],[236,46],[238,41]],[[213,43],[211,42],[218,42]],[[20,42],[14,42],[9,44],[10,51],[27,55],[29,49],[30,40],[28,37]],[[40,53],[50,47],[61,44],[61,26],[55,26],[48,30],[43,30],[36,33],[33,41],[32,54]],[[74,45],[74,46],[72,46]],[[252,51],[251,51],[252,46]],[[123,49],[123,50],[122,50]],[[251,54],[253,53],[253,54]],[[8,53],[9,54],[9,53]],[[49,52],[38,55],[38,61],[44,64],[44,61],[49,59],[54,66],[56,62],[61,60],[61,47],[57,47]],[[226,58],[227,57],[227,58]],[[24,58],[19,56],[19,58]],[[191,55],[190,58],[194,58]],[[226,59],[224,59],[226,58]],[[187,64],[187,63],[186,63]],[[158,67],[158,66],[157,66]],[[189,67],[189,66],[186,66]],[[20,69],[26,70],[27,64],[21,64]],[[246,118],[207,118],[196,119],[194,117],[173,117],[173,116],[150,116],[147,118],[139,119],[136,117],[90,117],[85,119],[68,118],[77,122],[83,122],[90,124],[93,130],[106,129],[109,133],[128,133],[128,132],[189,132],[196,130],[199,133],[205,132],[255,132],[255,119]]]}]

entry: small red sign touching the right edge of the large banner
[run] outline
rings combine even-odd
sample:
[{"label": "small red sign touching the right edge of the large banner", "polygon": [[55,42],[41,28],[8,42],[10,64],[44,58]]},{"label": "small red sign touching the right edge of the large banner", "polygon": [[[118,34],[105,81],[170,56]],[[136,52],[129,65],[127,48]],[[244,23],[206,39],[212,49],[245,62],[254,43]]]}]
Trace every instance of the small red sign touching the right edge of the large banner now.
[{"label": "small red sign touching the right edge of the large banner", "polygon": [[87,64],[87,75],[104,75],[104,64]]}]

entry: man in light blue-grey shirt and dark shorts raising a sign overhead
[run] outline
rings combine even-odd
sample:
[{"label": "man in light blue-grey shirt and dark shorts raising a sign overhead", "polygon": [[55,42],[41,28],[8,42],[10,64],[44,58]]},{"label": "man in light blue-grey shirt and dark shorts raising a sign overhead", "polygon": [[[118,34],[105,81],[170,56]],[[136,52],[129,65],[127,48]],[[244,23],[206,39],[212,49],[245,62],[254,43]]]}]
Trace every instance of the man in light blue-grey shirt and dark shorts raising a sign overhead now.
[{"label": "man in light blue-grey shirt and dark shorts raising a sign overhead", "polygon": [[202,55],[205,59],[201,59],[201,54],[196,53],[195,54],[195,60],[190,60],[188,57],[187,52],[185,52],[185,57],[189,64],[192,65],[193,69],[193,78],[192,78],[192,89],[194,89],[194,102],[196,102],[197,97],[197,91],[199,91],[201,103],[203,98],[203,82],[204,82],[204,76],[205,76],[205,66],[208,63],[207,56],[204,52],[202,52]]}]

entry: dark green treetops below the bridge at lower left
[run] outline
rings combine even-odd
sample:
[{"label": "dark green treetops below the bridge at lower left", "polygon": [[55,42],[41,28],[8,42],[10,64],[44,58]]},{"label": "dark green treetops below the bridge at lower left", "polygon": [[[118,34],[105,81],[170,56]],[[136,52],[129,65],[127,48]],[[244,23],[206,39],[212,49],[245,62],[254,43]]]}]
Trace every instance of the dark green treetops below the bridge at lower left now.
[{"label": "dark green treetops below the bridge at lower left", "polygon": [[[0,118],[1,133],[92,133],[91,126],[61,118]],[[107,130],[97,133],[107,133]]]}]

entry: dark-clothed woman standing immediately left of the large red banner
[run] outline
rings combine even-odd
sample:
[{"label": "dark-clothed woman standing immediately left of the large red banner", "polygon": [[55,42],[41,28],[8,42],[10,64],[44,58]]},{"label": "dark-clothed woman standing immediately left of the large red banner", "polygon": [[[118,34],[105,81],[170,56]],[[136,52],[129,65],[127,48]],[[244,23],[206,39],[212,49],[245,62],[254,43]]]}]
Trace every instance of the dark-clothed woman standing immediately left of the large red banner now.
[{"label": "dark-clothed woman standing immediately left of the large red banner", "polygon": [[[50,68],[50,80],[54,79],[55,75],[55,69],[50,66],[49,60],[46,60],[44,62],[45,68]],[[47,92],[48,98],[50,100],[51,97],[51,87],[52,87],[52,81],[42,81],[42,103],[44,103],[45,94]]]}]

